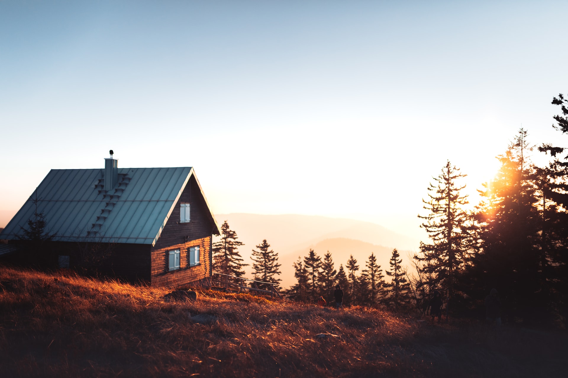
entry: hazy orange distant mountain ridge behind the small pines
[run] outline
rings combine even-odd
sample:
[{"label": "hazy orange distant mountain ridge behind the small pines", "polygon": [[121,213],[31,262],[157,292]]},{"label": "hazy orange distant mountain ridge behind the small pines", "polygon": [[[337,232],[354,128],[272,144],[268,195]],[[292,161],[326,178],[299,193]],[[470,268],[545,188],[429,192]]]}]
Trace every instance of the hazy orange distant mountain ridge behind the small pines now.
[{"label": "hazy orange distant mountain ridge behind the small pines", "polygon": [[[215,214],[215,218],[219,223],[227,220],[231,230],[239,236],[239,241],[245,244],[239,248],[245,263],[251,264],[252,249],[266,239],[271,248],[278,252],[278,262],[282,264],[280,278],[285,288],[294,283],[293,262],[298,256],[306,256],[310,248],[320,256],[329,250],[337,269],[340,264],[345,265],[349,254],[353,254],[360,269],[364,269],[371,252],[375,253],[378,263],[385,268],[392,248],[401,251],[404,258],[404,251],[416,250],[419,246],[416,239],[390,231],[379,224],[354,219],[247,213]],[[245,272],[250,276],[252,267],[245,267]]]}]

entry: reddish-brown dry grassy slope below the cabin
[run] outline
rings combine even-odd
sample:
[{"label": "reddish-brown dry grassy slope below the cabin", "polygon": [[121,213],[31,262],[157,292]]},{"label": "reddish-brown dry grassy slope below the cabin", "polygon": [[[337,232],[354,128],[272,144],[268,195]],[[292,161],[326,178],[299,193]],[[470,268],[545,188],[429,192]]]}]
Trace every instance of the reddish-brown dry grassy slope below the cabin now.
[{"label": "reddish-brown dry grassy slope below the cabin", "polygon": [[[171,304],[166,288],[7,267],[0,282],[2,376],[566,376],[564,334],[248,294]],[[198,324],[199,314],[215,320]]]}]

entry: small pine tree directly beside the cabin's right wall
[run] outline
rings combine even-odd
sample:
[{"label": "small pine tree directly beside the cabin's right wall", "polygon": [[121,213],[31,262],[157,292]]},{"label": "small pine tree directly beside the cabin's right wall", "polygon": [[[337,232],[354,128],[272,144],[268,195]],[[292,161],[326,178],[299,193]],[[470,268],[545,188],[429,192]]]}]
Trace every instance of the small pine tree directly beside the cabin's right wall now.
[{"label": "small pine tree directly beside the cabin's right wall", "polygon": [[243,263],[243,259],[237,251],[237,248],[244,245],[237,239],[237,233],[229,228],[227,220],[225,220],[223,226],[221,226],[221,240],[213,244],[213,265],[218,273],[236,277],[243,276],[243,266],[248,264]]}]

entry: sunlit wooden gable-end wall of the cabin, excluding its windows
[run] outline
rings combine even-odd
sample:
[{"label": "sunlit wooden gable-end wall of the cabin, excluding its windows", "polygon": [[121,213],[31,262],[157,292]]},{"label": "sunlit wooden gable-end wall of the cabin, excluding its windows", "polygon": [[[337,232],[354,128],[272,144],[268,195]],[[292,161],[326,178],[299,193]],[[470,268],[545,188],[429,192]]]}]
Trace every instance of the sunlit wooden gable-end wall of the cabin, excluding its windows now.
[{"label": "sunlit wooden gable-end wall of the cabin, excluding its windows", "polygon": [[[189,223],[179,222],[181,203],[190,203]],[[152,286],[181,286],[211,277],[211,231],[213,224],[208,216],[197,182],[191,177],[183,190],[172,215],[151,250]],[[199,246],[199,265],[189,266],[189,248]],[[169,271],[169,251],[179,249],[179,269]]]}]

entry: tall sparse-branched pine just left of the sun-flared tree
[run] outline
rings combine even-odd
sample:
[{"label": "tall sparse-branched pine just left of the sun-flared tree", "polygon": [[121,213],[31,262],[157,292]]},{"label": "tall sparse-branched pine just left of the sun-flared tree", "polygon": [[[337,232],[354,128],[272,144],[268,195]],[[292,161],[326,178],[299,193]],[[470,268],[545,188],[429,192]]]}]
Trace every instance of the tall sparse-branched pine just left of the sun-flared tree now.
[{"label": "tall sparse-branched pine just left of the sun-flared tree", "polygon": [[436,184],[428,186],[428,201],[422,200],[429,214],[418,216],[425,220],[420,227],[425,228],[432,243],[421,242],[420,254],[415,258],[428,262],[424,269],[428,269],[427,273],[436,277],[436,284],[446,291],[446,319],[456,276],[470,255],[473,243],[472,218],[463,209],[468,203],[467,196],[460,194],[465,185],[457,185],[457,180],[465,176],[448,161],[442,173],[434,178]]}]

